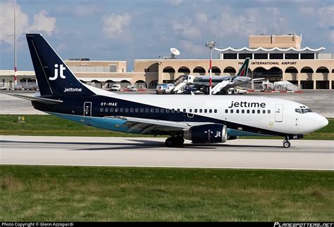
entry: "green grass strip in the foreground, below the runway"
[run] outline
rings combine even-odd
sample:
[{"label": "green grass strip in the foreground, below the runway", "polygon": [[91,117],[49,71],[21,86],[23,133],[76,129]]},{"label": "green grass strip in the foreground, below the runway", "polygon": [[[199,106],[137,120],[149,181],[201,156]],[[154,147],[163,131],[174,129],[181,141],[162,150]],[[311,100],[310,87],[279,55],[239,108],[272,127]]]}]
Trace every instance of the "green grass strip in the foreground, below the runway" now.
[{"label": "green grass strip in the foreground, below the runway", "polygon": [[333,171],[0,166],[2,221],[333,221]]}]

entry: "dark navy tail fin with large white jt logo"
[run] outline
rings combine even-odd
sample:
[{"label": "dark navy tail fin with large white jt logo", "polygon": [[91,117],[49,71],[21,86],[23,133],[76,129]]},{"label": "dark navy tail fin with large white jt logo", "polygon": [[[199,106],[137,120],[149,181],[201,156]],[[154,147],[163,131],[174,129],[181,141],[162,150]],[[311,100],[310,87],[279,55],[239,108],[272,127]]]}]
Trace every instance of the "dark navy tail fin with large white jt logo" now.
[{"label": "dark navy tail fin with large white jt logo", "polygon": [[75,77],[41,34],[26,34],[26,37],[42,97],[94,95]]}]

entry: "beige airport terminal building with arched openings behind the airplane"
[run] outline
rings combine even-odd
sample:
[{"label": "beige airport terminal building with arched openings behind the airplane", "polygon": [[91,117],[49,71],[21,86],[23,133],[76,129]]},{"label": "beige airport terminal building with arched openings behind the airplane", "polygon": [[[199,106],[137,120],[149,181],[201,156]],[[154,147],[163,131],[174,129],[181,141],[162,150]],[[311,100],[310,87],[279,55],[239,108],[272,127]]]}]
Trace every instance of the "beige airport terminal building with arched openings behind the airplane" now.
[{"label": "beige airport terminal building with arched openings behind the airplane", "polygon": [[[249,36],[249,46],[216,48],[218,58],[212,60],[212,75],[233,75],[245,58],[250,58],[249,75],[270,82],[288,81],[301,89],[333,89],[334,55],[324,47],[301,48],[302,37],[296,34]],[[209,51],[208,51],[209,53]],[[125,61],[95,61],[87,58],[66,60],[66,64],[82,81],[108,89],[119,83],[154,89],[158,83],[172,82],[182,74],[208,75],[208,59],[135,59],[134,70],[126,71]],[[2,86],[13,88],[13,70],[0,70]],[[18,71],[18,84],[36,84],[33,71]]]}]

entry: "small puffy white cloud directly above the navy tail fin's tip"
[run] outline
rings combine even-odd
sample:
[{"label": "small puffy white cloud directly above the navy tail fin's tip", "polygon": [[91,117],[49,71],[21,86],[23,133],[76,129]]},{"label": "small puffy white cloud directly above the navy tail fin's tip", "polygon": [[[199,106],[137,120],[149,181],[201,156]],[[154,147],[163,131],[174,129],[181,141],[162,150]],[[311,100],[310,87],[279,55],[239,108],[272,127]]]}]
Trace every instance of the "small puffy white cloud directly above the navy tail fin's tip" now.
[{"label": "small puffy white cloud directly above the navy tail fin's tip", "polygon": [[44,31],[50,35],[55,29],[56,29],[56,18],[47,17],[46,11],[40,11],[39,13],[34,15],[34,22],[28,28],[28,31],[29,32]]}]

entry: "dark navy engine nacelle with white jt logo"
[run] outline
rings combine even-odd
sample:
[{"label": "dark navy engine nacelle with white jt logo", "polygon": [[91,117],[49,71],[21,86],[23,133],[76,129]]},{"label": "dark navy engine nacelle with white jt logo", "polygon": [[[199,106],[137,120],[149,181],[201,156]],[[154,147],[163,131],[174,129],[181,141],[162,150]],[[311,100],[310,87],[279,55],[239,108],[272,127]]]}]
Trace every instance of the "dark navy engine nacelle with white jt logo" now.
[{"label": "dark navy engine nacelle with white jt logo", "polygon": [[185,131],[185,138],[192,143],[225,143],[228,140],[227,127],[224,124],[204,124]]}]

